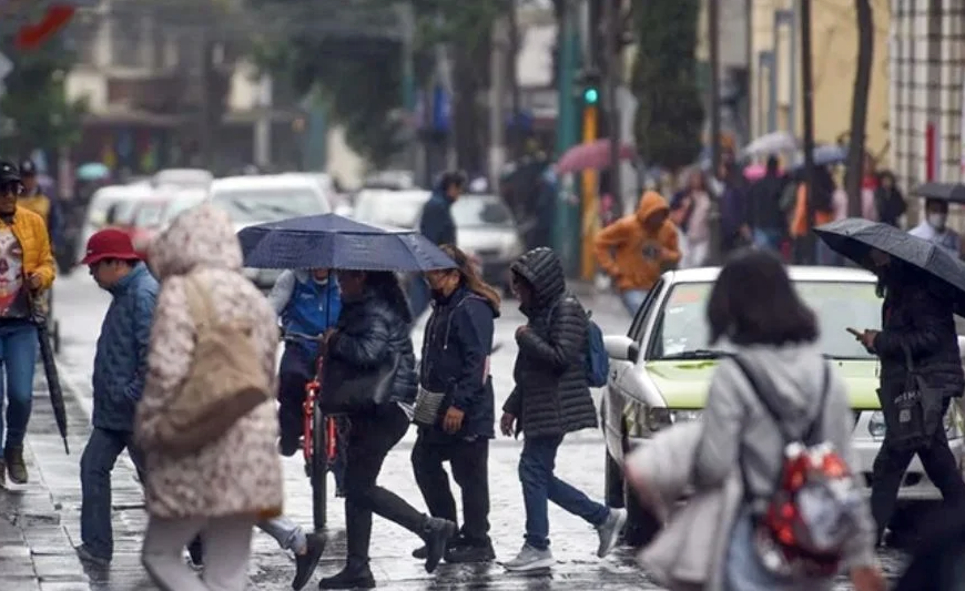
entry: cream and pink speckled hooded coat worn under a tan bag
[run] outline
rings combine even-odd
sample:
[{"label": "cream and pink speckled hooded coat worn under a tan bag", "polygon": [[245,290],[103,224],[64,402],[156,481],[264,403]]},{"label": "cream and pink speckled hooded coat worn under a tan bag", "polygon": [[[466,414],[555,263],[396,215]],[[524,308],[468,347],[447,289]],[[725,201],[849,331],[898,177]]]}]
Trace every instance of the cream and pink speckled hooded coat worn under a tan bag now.
[{"label": "cream and pink speckled hooded coat worn under a tan bag", "polygon": [[193,456],[174,458],[152,445],[159,418],[194,361],[196,330],[186,275],[200,279],[220,320],[251,323],[256,361],[268,375],[275,374],[277,317],[241,273],[241,246],[231,218],[211,204],[182,213],[152,243],[149,261],[161,281],[161,292],[134,431],[146,459],[148,511],[169,519],[278,514],[283,480],[274,400],[266,400]]}]

